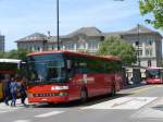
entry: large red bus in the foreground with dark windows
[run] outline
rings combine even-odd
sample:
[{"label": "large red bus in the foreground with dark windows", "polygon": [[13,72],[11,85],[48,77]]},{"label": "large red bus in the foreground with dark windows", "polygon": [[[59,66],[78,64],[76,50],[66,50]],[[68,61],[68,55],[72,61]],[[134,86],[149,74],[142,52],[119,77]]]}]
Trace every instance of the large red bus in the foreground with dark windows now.
[{"label": "large red bus in the foreground with dark windows", "polygon": [[71,51],[28,54],[28,101],[86,101],[114,95],[122,87],[121,58],[97,57]]}]

